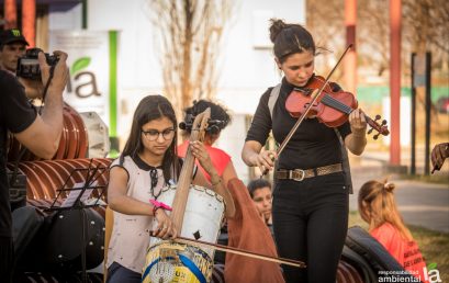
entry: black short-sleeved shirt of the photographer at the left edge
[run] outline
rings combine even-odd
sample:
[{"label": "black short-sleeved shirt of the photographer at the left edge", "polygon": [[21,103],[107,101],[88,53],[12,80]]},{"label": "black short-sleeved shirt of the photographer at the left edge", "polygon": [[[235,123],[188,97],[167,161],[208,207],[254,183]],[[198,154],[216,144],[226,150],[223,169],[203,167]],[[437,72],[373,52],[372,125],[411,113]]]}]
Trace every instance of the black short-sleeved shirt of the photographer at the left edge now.
[{"label": "black short-sleeved shirt of the photographer at the left edge", "polygon": [[20,133],[35,118],[36,111],[27,101],[23,86],[11,73],[0,70],[0,237],[12,236],[7,178],[8,131]]}]

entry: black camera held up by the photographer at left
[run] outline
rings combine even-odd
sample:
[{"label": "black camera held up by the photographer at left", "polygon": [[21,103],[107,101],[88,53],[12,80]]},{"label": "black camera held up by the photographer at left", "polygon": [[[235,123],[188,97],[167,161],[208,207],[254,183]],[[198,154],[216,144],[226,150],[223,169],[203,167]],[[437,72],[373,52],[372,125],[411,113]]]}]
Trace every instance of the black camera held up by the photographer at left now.
[{"label": "black camera held up by the photographer at left", "polygon": [[[41,67],[37,60],[37,55],[43,52],[41,48],[30,48],[26,50],[25,56],[20,57],[18,60],[18,68],[15,75],[31,80],[41,80]],[[55,66],[59,58],[55,55],[44,53],[48,66]]]}]

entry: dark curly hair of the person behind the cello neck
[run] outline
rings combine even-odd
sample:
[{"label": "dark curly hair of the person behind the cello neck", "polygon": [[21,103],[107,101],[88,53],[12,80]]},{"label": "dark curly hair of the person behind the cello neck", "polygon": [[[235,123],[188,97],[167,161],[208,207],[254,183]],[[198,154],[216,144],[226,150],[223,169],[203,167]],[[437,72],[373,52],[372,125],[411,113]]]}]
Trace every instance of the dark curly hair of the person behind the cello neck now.
[{"label": "dark curly hair of the person behind the cello neck", "polygon": [[191,134],[191,125],[194,121],[194,117],[198,114],[204,112],[207,107],[211,109],[211,121],[213,122],[210,123],[210,125],[205,129],[207,134],[217,134],[231,123],[231,115],[227,113],[227,110],[224,106],[212,101],[199,100],[193,101],[192,106],[184,109],[186,115],[183,123],[181,123],[183,124],[181,125],[181,128],[186,129],[188,134]]}]

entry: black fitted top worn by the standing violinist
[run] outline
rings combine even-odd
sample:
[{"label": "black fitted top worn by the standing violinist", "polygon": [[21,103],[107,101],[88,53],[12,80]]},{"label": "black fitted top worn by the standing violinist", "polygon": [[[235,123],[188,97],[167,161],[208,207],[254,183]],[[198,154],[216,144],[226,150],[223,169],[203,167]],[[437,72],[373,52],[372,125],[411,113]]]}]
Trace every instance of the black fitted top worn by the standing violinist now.
[{"label": "black fitted top worn by the standing violinist", "polygon": [[[333,86],[339,88],[338,84]],[[268,107],[271,88],[262,94],[246,140],[256,140],[265,145],[272,129],[276,142],[282,143],[298,120],[292,117],[285,109],[287,98],[293,88],[294,86],[287,82],[285,79],[282,80],[279,98],[273,107],[272,121]],[[351,132],[349,123],[346,122],[339,126],[338,131],[345,139]],[[319,123],[317,118],[304,120],[279,156],[279,168],[283,169],[310,169],[338,162],[341,162],[341,151],[337,135],[334,128]]]}]

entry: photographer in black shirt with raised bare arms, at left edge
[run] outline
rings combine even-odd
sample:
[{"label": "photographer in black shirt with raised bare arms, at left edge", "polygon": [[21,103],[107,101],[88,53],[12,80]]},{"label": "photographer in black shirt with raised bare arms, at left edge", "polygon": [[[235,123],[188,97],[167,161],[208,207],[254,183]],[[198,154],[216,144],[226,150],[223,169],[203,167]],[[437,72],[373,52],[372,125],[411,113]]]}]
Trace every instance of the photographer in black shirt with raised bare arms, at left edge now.
[{"label": "photographer in black shirt with raised bare arms, at left edge", "polygon": [[[55,52],[58,63],[50,78],[50,66],[44,53],[37,56],[42,72],[40,81],[14,78],[0,70],[0,279],[11,282],[13,273],[13,244],[9,182],[7,177],[7,134],[14,137],[33,154],[52,158],[63,131],[63,91],[68,80],[67,54]],[[19,82],[20,81],[20,82]],[[47,83],[49,81],[49,83]],[[22,84],[21,84],[22,83]],[[48,86],[47,86],[48,84]],[[43,90],[45,92],[43,94]],[[27,102],[26,94],[41,93],[45,103],[42,115]]]}]

